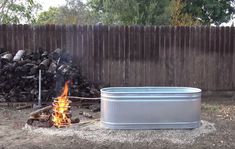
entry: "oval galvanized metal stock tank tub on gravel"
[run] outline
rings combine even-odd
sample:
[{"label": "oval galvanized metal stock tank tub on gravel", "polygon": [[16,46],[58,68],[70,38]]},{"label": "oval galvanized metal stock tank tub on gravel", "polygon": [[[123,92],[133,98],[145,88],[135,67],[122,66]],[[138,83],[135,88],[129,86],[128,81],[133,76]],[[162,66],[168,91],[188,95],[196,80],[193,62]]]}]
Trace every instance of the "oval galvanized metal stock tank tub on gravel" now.
[{"label": "oval galvanized metal stock tank tub on gravel", "polygon": [[101,126],[110,129],[184,129],[200,126],[201,90],[191,87],[101,89]]}]

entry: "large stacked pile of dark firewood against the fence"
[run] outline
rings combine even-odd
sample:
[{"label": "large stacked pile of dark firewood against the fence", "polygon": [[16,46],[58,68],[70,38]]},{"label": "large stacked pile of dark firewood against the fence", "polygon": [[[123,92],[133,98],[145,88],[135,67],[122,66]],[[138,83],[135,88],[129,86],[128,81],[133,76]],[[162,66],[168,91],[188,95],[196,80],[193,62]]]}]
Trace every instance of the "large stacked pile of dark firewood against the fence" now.
[{"label": "large stacked pile of dark firewood against the fence", "polygon": [[42,101],[52,101],[70,80],[70,96],[98,97],[97,85],[81,76],[66,50],[48,52],[19,50],[16,54],[0,49],[0,102],[36,101],[38,72],[42,72]]}]

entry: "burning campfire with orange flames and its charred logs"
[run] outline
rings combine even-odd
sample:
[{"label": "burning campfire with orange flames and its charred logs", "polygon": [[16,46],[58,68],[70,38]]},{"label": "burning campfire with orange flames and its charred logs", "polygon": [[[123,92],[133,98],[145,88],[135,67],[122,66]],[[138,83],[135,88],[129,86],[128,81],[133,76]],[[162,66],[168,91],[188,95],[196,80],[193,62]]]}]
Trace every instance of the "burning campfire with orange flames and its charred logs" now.
[{"label": "burning campfire with orange flames and its charred logs", "polygon": [[27,124],[37,127],[57,128],[67,127],[72,123],[79,123],[79,118],[73,118],[70,111],[69,81],[64,85],[60,96],[54,99],[52,105],[38,109],[30,114]]}]

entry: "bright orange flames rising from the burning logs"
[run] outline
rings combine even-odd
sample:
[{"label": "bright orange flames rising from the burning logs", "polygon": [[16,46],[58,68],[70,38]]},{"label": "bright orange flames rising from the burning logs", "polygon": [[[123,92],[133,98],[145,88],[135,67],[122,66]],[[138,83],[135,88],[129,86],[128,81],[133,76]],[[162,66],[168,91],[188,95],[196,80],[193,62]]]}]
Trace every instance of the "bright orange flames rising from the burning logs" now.
[{"label": "bright orange flames rising from the burning logs", "polygon": [[68,98],[69,81],[65,83],[62,94],[57,97],[53,102],[52,121],[56,127],[65,127],[71,124],[70,120],[70,101]]}]

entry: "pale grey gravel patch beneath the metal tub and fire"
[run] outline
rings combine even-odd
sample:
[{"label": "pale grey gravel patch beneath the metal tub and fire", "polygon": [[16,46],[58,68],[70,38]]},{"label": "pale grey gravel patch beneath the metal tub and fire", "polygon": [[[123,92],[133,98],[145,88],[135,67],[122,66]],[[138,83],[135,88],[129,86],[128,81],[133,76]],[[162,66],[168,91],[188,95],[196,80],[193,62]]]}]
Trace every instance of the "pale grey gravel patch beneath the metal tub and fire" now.
[{"label": "pale grey gravel patch beneath the metal tub and fire", "polygon": [[192,130],[110,130],[100,127],[98,120],[74,124],[68,128],[35,128],[26,125],[24,130],[33,134],[58,137],[79,137],[93,142],[149,142],[157,140],[176,144],[192,144],[196,138],[214,132],[215,126],[208,121],[201,121],[201,126]]}]

